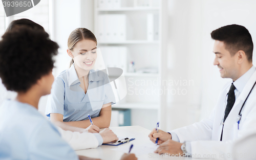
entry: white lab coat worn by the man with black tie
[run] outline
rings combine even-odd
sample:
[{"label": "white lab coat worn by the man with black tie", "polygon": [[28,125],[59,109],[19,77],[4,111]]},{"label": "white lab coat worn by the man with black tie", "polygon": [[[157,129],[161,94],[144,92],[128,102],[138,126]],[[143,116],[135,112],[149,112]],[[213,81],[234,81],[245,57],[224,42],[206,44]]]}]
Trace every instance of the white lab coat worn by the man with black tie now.
[{"label": "white lab coat worn by the man with black tie", "polygon": [[[193,125],[172,130],[172,132],[178,135],[181,143],[190,141],[192,155],[200,154],[201,158],[207,158],[205,155],[215,154],[215,158],[222,158],[223,155],[228,158],[229,154],[231,154],[229,151],[234,140],[243,138],[256,130],[256,85],[252,89],[241,111],[242,118],[240,120],[239,129],[237,123],[239,111],[255,81],[256,72],[250,77],[239,97],[236,99],[236,102],[225,120],[224,127],[221,123],[226,108],[225,98],[231,82],[226,84],[221,90],[217,104],[209,118],[203,119]],[[222,127],[223,136],[222,141],[220,141]]]}]

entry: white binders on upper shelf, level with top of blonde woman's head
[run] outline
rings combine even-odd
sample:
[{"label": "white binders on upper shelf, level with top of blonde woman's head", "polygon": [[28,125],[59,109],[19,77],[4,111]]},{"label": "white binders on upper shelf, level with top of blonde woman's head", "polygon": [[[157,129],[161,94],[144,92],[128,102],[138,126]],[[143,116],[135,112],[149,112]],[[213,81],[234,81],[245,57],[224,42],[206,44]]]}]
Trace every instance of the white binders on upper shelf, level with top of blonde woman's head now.
[{"label": "white binders on upper shelf, level with top of blonde woman's head", "polygon": [[99,42],[119,42],[126,40],[126,15],[101,14],[98,17]]}]

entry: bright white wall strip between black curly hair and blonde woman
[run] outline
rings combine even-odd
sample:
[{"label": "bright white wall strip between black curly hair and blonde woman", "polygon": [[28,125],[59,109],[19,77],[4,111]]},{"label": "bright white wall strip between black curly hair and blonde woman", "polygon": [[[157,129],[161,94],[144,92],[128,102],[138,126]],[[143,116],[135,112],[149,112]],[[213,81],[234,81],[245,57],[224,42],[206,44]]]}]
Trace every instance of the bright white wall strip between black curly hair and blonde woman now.
[{"label": "bright white wall strip between black curly hair and blonde woman", "polygon": [[60,47],[59,54],[56,57],[55,76],[67,68],[68,62],[71,59],[67,54],[68,37],[74,29],[81,27],[80,6],[80,0],[73,0],[72,3],[68,0],[53,1],[53,40],[56,41]]}]

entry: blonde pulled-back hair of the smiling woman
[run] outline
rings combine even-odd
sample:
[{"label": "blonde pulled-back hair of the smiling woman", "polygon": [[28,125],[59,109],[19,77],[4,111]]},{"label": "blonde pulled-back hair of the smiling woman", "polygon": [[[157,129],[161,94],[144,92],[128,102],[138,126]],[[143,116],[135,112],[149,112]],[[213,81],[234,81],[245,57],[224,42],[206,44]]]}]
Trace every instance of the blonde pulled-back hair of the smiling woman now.
[{"label": "blonde pulled-back hair of the smiling woman", "polygon": [[[77,28],[74,31],[72,31],[69,35],[68,49],[73,50],[73,48],[75,47],[75,44],[78,41],[83,40],[83,39],[93,40],[97,45],[97,39],[96,39],[95,35],[90,30],[88,30],[86,28]],[[73,63],[74,63],[74,60],[71,59],[70,67]]]}]

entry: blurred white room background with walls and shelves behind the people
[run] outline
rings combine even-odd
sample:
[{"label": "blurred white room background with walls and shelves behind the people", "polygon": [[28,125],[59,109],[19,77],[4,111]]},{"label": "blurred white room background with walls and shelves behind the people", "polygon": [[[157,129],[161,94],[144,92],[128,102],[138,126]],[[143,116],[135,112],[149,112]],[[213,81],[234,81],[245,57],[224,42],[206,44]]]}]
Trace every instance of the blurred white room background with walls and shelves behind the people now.
[{"label": "blurred white room background with walls and shelves behind the people", "polygon": [[[122,68],[127,95],[112,106],[111,126],[140,125],[172,130],[207,118],[222,79],[213,65],[211,31],[245,26],[256,41],[254,0],[41,0],[6,17],[0,4],[0,35],[12,20],[31,19],[60,45],[53,74],[68,68],[69,34],[91,30],[106,67]],[[255,56],[253,56],[253,63]],[[116,75],[109,75],[116,79]],[[0,85],[0,104],[15,93]],[[40,99],[44,113],[47,96]]]}]

